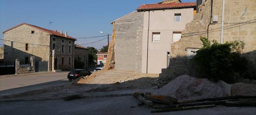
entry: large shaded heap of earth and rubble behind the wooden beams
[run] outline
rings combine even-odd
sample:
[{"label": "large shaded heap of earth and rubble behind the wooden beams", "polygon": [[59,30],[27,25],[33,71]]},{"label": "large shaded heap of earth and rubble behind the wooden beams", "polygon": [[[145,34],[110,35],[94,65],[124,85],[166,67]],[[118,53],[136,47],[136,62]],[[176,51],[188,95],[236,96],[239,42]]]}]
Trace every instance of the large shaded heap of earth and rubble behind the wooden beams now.
[{"label": "large shaded heap of earth and rubble behind the wooden beams", "polygon": [[188,75],[175,78],[152,94],[174,97],[178,101],[226,96],[225,90],[222,89],[219,83],[213,83],[208,79],[198,79]]}]

